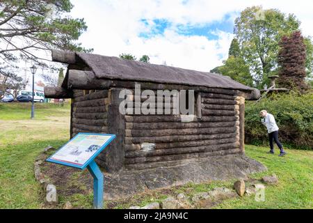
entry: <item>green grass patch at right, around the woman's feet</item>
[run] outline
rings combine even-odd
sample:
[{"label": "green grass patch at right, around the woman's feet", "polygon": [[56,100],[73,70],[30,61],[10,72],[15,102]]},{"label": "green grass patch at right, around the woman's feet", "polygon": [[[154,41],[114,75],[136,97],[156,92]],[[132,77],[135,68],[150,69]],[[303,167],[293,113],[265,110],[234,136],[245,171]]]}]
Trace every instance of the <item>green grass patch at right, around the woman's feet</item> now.
[{"label": "green grass patch at right, around the woman's feet", "polygon": [[265,201],[255,197],[231,199],[216,208],[313,208],[313,152],[287,150],[285,157],[264,154],[268,148],[246,146],[246,155],[262,162],[268,171],[252,174],[253,178],[276,174],[279,183],[267,186]]}]

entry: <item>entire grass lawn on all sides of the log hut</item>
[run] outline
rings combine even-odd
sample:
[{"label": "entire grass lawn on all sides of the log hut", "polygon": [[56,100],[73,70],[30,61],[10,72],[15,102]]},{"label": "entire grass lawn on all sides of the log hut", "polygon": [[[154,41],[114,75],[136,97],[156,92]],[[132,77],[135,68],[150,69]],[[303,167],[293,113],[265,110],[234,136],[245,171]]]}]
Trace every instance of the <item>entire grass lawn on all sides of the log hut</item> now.
[{"label": "entire grass lawn on all sides of the log hut", "polygon": [[[33,162],[43,148],[56,148],[69,139],[70,105],[35,104],[35,119],[31,120],[31,104],[0,104],[0,208],[43,208],[42,194],[33,176]],[[246,145],[246,155],[268,167],[266,173],[252,174],[252,178],[275,173],[279,183],[266,186],[264,202],[254,197],[230,199],[215,208],[312,208],[313,152],[287,150],[286,157],[266,154],[268,148]],[[144,206],[168,194],[184,192],[188,195],[204,192],[217,186],[232,187],[234,181],[210,182],[159,190],[137,195],[133,199],[105,202],[106,208]],[[90,208],[92,196],[61,197],[74,206]]]}]

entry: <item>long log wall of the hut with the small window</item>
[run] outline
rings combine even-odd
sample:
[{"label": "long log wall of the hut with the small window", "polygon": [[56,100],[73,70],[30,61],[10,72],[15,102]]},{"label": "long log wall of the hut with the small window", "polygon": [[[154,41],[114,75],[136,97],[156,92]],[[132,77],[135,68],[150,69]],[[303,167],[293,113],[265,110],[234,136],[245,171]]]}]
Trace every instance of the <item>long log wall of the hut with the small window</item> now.
[{"label": "long log wall of the hut with the small window", "polygon": [[[191,122],[182,122],[179,115],[125,115],[127,169],[243,151],[241,122],[244,98],[231,91],[195,93],[195,104],[199,103],[199,94],[201,116],[195,116]],[[144,151],[141,148],[143,143],[155,144],[154,150]]]}]

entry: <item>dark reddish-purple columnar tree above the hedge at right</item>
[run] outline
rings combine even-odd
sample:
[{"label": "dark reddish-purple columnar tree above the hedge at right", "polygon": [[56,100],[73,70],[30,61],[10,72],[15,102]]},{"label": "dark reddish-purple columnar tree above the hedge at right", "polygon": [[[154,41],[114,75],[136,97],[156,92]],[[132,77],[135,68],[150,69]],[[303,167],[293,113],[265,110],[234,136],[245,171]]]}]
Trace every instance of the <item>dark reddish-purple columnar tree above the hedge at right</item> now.
[{"label": "dark reddish-purple columnar tree above the hedge at right", "polygon": [[305,84],[306,52],[301,32],[296,31],[291,36],[283,36],[280,47],[278,54],[280,78],[278,84],[288,89],[306,90],[308,88]]}]

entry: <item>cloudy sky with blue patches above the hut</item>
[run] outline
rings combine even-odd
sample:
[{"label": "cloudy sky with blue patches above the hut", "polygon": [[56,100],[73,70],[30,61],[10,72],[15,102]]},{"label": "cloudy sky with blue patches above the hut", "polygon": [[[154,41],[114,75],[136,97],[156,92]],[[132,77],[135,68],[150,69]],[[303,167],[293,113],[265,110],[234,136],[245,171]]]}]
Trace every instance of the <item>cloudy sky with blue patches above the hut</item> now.
[{"label": "cloudy sky with blue patches above the hut", "polygon": [[79,42],[95,54],[143,54],[150,63],[209,71],[223,64],[234,20],[250,6],[294,13],[305,36],[313,36],[310,0],[72,0],[72,17],[84,18],[88,31]]}]

